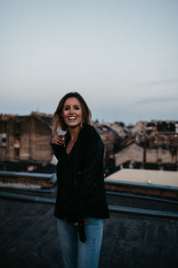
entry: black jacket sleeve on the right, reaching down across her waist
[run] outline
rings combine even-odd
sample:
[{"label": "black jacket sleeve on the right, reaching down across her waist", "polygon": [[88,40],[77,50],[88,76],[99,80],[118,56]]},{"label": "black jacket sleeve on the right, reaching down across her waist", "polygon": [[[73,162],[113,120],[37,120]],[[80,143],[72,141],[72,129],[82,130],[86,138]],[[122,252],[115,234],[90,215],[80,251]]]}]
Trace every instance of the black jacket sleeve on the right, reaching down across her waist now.
[{"label": "black jacket sleeve on the right, reaching down across her waist", "polygon": [[69,200],[67,221],[78,222],[85,213],[85,204],[93,193],[93,187],[101,176],[103,180],[104,146],[99,133],[93,129],[93,135],[85,137],[85,155],[81,170],[77,174],[76,190]]}]

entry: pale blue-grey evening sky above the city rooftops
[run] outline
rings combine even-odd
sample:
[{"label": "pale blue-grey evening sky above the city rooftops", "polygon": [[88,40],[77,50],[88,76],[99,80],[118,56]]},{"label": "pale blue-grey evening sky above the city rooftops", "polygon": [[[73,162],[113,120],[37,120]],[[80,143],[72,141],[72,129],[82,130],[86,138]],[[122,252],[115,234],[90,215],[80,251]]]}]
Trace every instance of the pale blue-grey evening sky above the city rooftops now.
[{"label": "pale blue-grey evening sky above the city rooftops", "polygon": [[178,120],[177,0],[0,0],[0,113],[54,113],[69,91],[93,120]]}]

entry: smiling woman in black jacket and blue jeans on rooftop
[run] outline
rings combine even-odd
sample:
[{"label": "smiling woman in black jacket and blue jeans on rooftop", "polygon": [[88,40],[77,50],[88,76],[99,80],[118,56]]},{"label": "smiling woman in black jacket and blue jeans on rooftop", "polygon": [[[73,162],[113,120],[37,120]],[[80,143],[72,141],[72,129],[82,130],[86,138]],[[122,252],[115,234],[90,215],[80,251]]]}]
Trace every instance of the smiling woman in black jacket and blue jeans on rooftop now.
[{"label": "smiling woman in black jacket and blue jeans on rooftop", "polygon": [[[56,135],[57,129],[66,130]],[[91,112],[77,92],[62,97],[54,113],[51,145],[58,159],[57,217],[65,268],[98,267],[103,220],[109,218],[103,181],[104,147]]]}]

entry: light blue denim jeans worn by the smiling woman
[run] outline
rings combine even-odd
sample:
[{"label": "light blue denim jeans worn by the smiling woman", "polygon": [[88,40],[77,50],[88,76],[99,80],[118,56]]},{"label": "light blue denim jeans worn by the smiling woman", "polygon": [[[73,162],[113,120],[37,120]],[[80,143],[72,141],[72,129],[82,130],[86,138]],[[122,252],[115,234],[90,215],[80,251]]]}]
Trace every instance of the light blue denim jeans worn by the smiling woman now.
[{"label": "light blue denim jeans worn by the smiling woman", "polygon": [[103,221],[87,218],[85,243],[78,236],[73,224],[57,219],[61,255],[65,268],[97,268],[101,250]]}]

